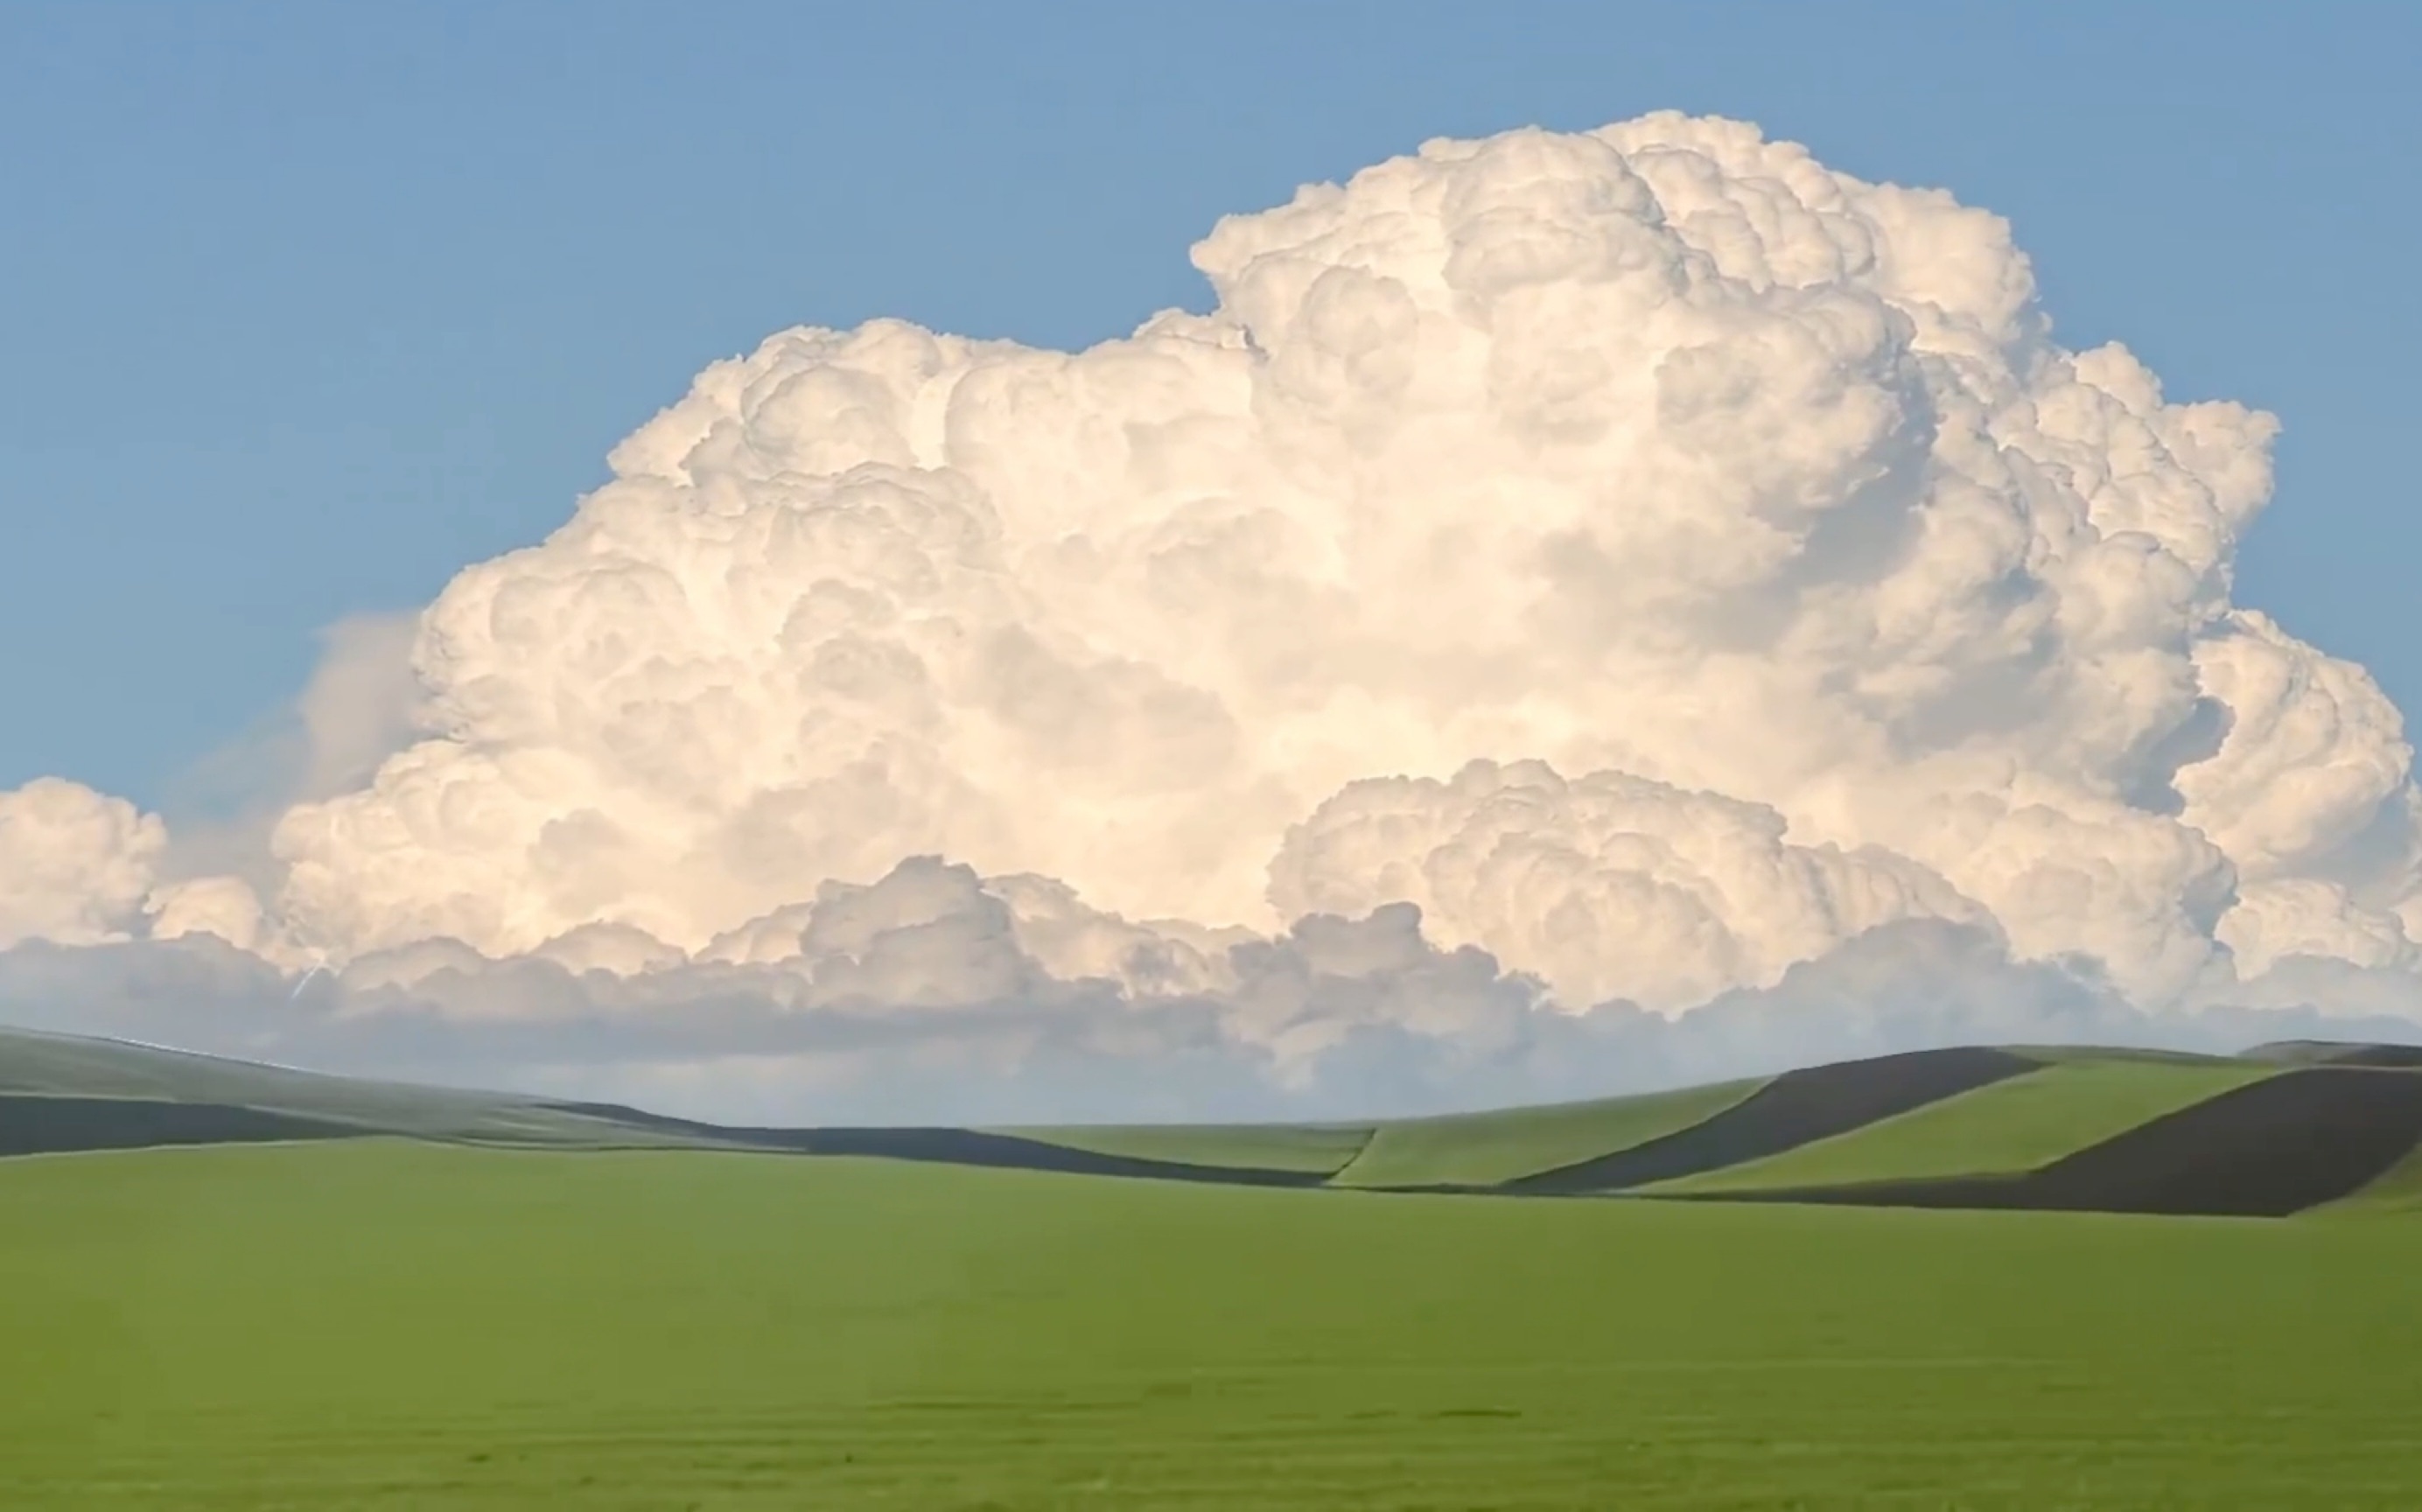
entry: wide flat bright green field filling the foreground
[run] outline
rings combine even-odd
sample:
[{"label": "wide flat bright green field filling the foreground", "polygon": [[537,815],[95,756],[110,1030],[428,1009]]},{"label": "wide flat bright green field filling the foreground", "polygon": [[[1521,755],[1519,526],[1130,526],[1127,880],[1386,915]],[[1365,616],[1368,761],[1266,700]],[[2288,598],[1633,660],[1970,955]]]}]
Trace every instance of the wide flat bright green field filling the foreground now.
[{"label": "wide flat bright green field filling the foreground", "polygon": [[2422,1221],[0,1163],[5,1507],[2422,1505]]}]

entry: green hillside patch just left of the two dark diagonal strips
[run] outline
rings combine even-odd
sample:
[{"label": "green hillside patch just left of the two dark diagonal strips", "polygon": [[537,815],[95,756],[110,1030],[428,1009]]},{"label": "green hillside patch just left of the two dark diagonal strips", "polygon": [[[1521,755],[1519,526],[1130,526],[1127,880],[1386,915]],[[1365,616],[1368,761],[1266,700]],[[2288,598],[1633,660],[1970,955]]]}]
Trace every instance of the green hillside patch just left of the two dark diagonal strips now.
[{"label": "green hillside patch just left of the two dark diagonal strips", "polygon": [[1332,1180],[1342,1187],[1494,1187],[1688,1129],[1758,1086],[1763,1083],[1729,1081],[1645,1098],[1381,1124],[1354,1163]]}]

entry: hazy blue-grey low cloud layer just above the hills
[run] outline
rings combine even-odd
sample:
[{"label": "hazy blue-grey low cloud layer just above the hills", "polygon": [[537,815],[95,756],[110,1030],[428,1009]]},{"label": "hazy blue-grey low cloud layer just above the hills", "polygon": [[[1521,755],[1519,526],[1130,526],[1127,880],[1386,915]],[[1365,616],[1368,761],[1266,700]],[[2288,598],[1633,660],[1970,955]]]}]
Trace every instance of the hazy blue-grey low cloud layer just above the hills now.
[{"label": "hazy blue-grey low cloud layer just above the hills", "polygon": [[[2369,1015],[2323,1013],[2291,981],[2146,1013],[2088,967],[2010,962],[1984,930],[1933,921],[1872,930],[1678,1018],[1557,1010],[1485,952],[1427,945],[1402,911],[1310,918],[1240,957],[1238,989],[1216,996],[1136,998],[1037,969],[1012,996],[903,1008],[816,993],[785,967],[615,976],[467,960],[412,984],[322,976],[295,993],[213,938],[22,945],[0,952],[0,1023],[794,1124],[1405,1117],[1940,1044],[2422,1042],[2393,981],[2369,984],[2383,1008]],[[2364,981],[2315,967],[2311,996],[2361,998]]]}]

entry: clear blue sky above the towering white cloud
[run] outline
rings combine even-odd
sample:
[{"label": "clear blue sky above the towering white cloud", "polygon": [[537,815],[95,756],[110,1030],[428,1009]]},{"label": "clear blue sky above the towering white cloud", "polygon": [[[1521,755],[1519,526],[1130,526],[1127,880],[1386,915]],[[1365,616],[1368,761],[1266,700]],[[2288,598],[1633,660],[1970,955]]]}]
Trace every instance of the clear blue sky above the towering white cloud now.
[{"label": "clear blue sky above the towering white cloud", "polygon": [[2001,211],[2068,344],[2277,409],[2240,598],[2422,708],[2417,51],[2352,5],[17,0],[0,788],[174,807],[320,625],[540,538],[777,327],[1083,344],[1201,308],[1221,213],[1649,109]]}]

